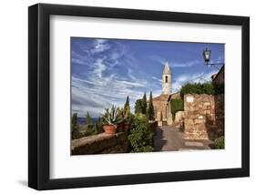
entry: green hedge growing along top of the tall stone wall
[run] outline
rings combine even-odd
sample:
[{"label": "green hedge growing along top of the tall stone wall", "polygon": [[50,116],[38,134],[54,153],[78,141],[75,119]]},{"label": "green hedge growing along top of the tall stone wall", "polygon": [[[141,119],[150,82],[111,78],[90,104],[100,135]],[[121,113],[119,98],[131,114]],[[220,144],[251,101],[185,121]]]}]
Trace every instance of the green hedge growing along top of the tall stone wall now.
[{"label": "green hedge growing along top of the tall stone wall", "polygon": [[184,97],[186,94],[219,95],[222,93],[224,93],[224,85],[212,83],[186,84],[180,90],[181,97]]}]

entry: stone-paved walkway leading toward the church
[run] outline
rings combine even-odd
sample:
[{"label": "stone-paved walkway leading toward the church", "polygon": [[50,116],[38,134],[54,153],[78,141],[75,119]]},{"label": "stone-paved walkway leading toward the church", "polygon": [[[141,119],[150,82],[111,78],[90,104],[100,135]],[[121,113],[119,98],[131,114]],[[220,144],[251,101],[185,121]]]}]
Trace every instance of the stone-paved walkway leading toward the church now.
[{"label": "stone-paved walkway leading toward the church", "polygon": [[186,139],[184,132],[174,126],[158,127],[154,139],[156,151],[179,151],[211,149],[214,142],[210,140]]}]

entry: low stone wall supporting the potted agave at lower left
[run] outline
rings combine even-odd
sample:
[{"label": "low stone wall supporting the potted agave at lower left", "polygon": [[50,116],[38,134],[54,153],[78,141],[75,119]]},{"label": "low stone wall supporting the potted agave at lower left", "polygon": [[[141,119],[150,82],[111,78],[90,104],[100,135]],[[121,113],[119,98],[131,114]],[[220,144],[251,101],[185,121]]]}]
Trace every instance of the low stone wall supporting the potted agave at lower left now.
[{"label": "low stone wall supporting the potted agave at lower left", "polygon": [[72,155],[107,154],[128,152],[128,133],[114,135],[100,133],[95,136],[72,140]]}]

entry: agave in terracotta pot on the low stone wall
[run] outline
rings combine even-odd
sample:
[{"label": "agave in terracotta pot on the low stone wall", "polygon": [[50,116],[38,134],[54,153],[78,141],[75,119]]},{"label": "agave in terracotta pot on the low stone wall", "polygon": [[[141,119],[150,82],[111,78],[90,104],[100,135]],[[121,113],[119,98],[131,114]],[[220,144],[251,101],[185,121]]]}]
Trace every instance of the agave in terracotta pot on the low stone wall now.
[{"label": "agave in terracotta pot on the low stone wall", "polygon": [[111,110],[109,111],[108,108],[106,108],[106,113],[103,116],[103,129],[106,134],[115,134],[117,132],[117,125],[118,123],[122,122],[122,117],[120,117],[118,108],[117,107],[111,107]]}]

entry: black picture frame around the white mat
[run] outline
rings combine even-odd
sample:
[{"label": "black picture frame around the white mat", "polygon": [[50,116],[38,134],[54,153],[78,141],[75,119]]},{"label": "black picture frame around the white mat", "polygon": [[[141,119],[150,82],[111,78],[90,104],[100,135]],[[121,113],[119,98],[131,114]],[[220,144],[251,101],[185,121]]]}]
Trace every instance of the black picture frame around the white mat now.
[{"label": "black picture frame around the white mat", "polygon": [[[86,178],[50,179],[49,19],[50,15],[241,26],[241,168],[205,169]],[[28,8],[28,186],[68,189],[180,180],[250,176],[250,18],[78,5],[37,4]]]}]

